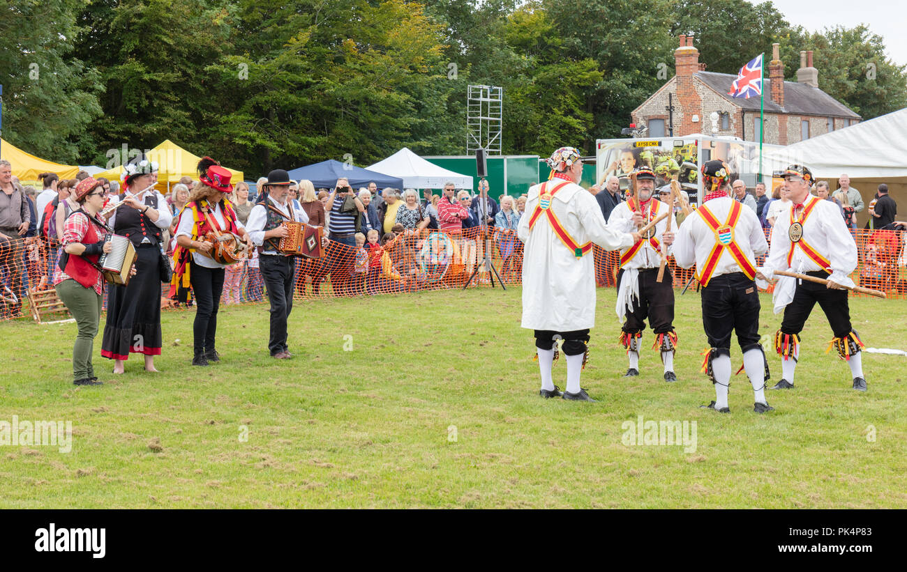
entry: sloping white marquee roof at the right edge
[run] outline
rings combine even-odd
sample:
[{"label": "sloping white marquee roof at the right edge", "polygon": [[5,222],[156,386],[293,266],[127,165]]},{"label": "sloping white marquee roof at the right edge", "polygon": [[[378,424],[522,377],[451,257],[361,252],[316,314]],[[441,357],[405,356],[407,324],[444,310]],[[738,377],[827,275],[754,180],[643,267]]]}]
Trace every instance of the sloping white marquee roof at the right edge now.
[{"label": "sloping white marquee roof at the right edge", "polygon": [[809,167],[816,178],[907,176],[907,108],[800,141],[771,153],[772,163]]}]

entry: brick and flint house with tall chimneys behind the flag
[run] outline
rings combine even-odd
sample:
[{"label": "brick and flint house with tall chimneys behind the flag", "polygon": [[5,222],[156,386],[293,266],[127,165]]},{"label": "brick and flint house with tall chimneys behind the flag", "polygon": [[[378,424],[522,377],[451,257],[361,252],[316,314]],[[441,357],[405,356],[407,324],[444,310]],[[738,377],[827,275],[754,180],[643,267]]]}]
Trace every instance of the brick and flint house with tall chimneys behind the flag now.
[{"label": "brick and flint house with tall chimneys behind the flag", "polygon": [[[676,75],[632,112],[634,122],[649,128],[649,137],[712,134],[709,117],[715,111],[719,117],[715,135],[759,140],[759,98],[736,99],[727,95],[736,75],[705,71],[706,64],[699,63],[699,51],[693,46],[693,36],[680,36],[674,61]],[[784,81],[777,43],[772,44],[772,60],[767,68],[763,85],[766,143],[789,145],[860,121],[853,110],[819,89],[813,52],[800,52],[797,81]],[[668,100],[674,107],[673,114],[668,113]]]}]

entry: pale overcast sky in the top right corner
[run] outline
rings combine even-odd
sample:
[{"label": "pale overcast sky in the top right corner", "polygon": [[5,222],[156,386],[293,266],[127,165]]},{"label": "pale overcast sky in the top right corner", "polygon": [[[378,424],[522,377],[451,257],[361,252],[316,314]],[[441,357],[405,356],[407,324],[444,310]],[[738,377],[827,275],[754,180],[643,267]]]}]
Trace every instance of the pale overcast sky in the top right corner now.
[{"label": "pale overcast sky in the top right corner", "polygon": [[[762,4],[750,0],[750,4]],[[788,22],[810,32],[844,25],[853,28],[866,24],[872,33],[883,37],[892,62],[907,63],[907,3],[903,0],[772,0]]]}]

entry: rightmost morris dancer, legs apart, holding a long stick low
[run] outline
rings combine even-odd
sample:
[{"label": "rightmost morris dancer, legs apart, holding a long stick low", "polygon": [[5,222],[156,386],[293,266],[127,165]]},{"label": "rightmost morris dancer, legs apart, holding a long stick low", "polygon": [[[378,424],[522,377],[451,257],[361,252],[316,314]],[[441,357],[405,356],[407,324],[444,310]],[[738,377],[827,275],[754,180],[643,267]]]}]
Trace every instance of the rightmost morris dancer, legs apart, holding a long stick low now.
[{"label": "rightmost morris dancer, legs apart, holding a long stick low", "polygon": [[863,377],[863,342],[851,326],[847,291],[853,288],[850,274],[856,269],[857,253],[853,235],[841,218],[837,205],[809,194],[813,174],[806,167],[791,165],[785,183],[793,207],[775,220],[766,278],[776,270],[798,272],[828,280],[828,285],[780,277],[775,285],[775,313],[785,310],[781,329],[775,333],[775,351],[781,356],[782,379],[773,389],[794,387],[794,370],[800,358],[800,332],[816,302],[825,312],[834,338],[828,348],[847,360],[853,375],[853,389],[866,391]]}]

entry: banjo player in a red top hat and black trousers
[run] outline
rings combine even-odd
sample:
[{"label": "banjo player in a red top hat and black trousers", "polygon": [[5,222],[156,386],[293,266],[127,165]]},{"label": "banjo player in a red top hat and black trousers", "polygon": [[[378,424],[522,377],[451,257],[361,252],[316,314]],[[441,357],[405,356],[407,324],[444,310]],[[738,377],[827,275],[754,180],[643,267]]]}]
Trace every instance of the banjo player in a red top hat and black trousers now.
[{"label": "banjo player in a red top hat and black trousers", "polygon": [[[208,366],[219,362],[216,349],[220,294],[224,287],[222,264],[211,257],[213,244],[204,240],[213,232],[237,234],[249,244],[249,234],[239,222],[227,195],[233,190],[232,175],[211,157],[199,161],[199,184],[192,189],[189,203],[182,210],[176,229],[177,248],[173,252],[176,270],[171,281],[171,297],[191,284],[195,292],[195,321],[192,323],[192,365]],[[191,253],[191,256],[190,256]]]}]

